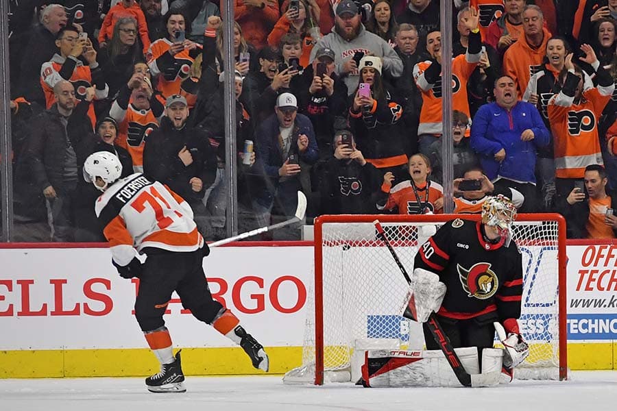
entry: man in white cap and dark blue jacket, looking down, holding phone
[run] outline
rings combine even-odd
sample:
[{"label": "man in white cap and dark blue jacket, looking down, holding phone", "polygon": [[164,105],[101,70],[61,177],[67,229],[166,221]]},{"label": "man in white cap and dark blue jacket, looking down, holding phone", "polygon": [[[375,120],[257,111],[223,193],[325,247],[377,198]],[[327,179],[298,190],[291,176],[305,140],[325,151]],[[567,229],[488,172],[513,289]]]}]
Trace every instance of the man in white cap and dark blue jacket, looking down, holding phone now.
[{"label": "man in white cap and dark blue jacket, looking down, holding phone", "polygon": [[[290,219],[298,207],[298,190],[311,190],[309,165],[319,158],[313,124],[298,114],[298,99],[284,92],[274,114],[255,130],[256,166],[263,171],[265,188],[255,199],[260,226]],[[278,240],[298,240],[298,229],[276,231]]]}]

